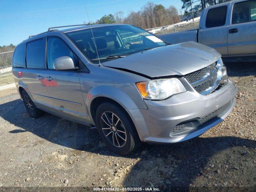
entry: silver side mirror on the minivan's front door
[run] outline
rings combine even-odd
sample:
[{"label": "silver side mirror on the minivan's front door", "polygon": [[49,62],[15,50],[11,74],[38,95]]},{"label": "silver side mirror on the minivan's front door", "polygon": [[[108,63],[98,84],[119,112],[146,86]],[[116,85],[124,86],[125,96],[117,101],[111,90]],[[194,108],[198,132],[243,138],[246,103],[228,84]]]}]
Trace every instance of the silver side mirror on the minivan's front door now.
[{"label": "silver side mirror on the minivan's front door", "polygon": [[68,56],[56,58],[53,61],[53,67],[56,70],[78,70],[78,67],[75,67],[72,58]]}]

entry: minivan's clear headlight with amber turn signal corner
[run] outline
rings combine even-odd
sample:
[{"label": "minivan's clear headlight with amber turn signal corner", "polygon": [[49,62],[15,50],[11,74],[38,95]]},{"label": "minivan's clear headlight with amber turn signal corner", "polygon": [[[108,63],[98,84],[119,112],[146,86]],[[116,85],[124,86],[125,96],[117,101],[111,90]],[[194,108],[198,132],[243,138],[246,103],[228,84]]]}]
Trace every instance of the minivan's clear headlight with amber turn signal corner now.
[{"label": "minivan's clear headlight with amber turn signal corner", "polygon": [[144,81],[136,83],[136,86],[141,96],[149,100],[163,100],[186,91],[177,78]]}]

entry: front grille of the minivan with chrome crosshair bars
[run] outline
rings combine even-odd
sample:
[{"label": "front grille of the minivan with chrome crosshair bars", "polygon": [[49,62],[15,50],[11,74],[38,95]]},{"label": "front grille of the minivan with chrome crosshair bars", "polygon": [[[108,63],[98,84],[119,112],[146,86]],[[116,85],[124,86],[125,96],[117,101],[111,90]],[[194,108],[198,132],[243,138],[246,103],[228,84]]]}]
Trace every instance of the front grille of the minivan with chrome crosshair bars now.
[{"label": "front grille of the minivan with chrome crosshair bars", "polygon": [[[191,86],[200,94],[213,92],[220,84],[221,64],[217,62],[184,76]],[[218,73],[220,71],[220,73]]]}]

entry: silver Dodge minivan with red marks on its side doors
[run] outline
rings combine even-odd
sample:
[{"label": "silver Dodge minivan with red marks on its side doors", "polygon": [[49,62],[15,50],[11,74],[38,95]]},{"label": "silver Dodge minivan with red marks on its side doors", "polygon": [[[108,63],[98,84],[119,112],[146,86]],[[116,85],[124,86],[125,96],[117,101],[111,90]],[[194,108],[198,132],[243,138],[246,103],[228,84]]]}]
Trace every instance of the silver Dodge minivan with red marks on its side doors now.
[{"label": "silver Dodge minivan with red marks on its side doors", "polygon": [[30,116],[96,126],[118,154],[200,136],[237,92],[216,50],[124,24],[49,28],[16,46],[12,71]]}]

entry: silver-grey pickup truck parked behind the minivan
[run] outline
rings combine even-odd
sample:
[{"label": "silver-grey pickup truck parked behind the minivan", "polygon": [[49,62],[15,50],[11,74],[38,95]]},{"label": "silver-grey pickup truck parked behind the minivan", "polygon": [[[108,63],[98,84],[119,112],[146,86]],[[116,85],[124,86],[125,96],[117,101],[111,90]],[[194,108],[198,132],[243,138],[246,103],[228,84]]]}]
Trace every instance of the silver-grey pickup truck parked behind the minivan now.
[{"label": "silver-grey pickup truck parked behind the minivan", "polygon": [[202,11],[199,28],[158,36],[170,44],[195,41],[223,57],[256,55],[256,0],[235,0]]}]

